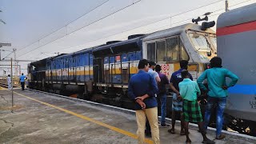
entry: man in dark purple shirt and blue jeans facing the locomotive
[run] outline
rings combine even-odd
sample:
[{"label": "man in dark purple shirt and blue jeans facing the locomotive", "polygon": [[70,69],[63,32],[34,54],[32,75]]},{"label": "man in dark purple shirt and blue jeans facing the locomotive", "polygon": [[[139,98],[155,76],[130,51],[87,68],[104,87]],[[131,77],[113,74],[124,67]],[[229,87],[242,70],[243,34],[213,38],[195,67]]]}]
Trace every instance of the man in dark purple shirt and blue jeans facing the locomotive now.
[{"label": "man in dark purple shirt and blue jeans facing the locomotive", "polygon": [[161,79],[161,82],[158,82],[158,98],[161,102],[161,127],[170,127],[166,124],[166,85],[169,84],[169,80],[166,74],[160,72],[161,66],[155,66],[155,71]]}]

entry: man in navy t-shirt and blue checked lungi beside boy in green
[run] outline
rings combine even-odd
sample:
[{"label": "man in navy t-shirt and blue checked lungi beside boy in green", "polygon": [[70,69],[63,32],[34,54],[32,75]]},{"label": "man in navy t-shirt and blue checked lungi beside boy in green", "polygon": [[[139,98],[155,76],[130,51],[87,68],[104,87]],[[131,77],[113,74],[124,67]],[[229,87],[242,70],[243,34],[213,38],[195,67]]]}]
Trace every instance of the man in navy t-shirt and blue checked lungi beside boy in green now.
[{"label": "man in navy t-shirt and blue checked lungi beside boy in green", "polygon": [[[171,114],[171,129],[168,130],[168,132],[170,132],[171,134],[175,134],[174,131],[174,126],[175,126],[175,121],[176,121],[176,114],[180,114],[181,115],[181,122],[183,123],[183,118],[182,118],[182,101],[178,98],[180,97],[179,94],[179,88],[178,88],[178,83],[183,81],[182,78],[182,70],[187,70],[187,65],[188,65],[188,61],[186,60],[182,60],[179,64],[181,66],[181,69],[179,69],[178,71],[175,71],[173,74],[171,74],[170,77],[170,88],[171,90],[174,91],[173,94],[173,104],[172,104],[172,114]],[[192,75],[189,74],[190,79],[193,81]],[[184,131],[184,127],[183,125],[181,125],[181,135],[185,134]]]}]

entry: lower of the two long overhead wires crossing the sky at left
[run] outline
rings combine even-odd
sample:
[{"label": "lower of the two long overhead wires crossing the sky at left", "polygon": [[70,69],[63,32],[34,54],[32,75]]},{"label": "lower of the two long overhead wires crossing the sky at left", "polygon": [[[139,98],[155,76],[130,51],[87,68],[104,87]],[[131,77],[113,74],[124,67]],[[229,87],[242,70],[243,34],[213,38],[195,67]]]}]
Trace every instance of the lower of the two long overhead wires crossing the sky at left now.
[{"label": "lower of the two long overhead wires crossing the sky at left", "polygon": [[[125,6],[125,7],[123,7],[123,8],[120,9],[120,10],[116,10],[116,11],[114,11],[113,13],[108,14],[108,15],[102,17],[102,18],[99,18],[98,20],[96,20],[96,21],[94,21],[94,22],[91,22],[90,24],[88,24],[88,25],[86,25],[86,26],[90,26],[90,25],[94,24],[95,22],[99,22],[99,21],[101,21],[101,20],[104,19],[104,18],[107,18],[107,17],[109,17],[109,16],[111,16],[111,15],[113,15],[113,14],[118,13],[118,12],[121,11],[121,10],[125,10],[127,7],[130,7],[130,6],[136,4],[136,3],[140,2],[140,1],[142,1],[142,0],[138,0],[137,2],[133,2],[132,4],[130,4],[130,5],[128,5],[128,6]],[[69,34],[73,34],[74,32],[76,32],[76,31],[78,31],[78,30],[81,30],[81,29],[85,28],[86,26],[82,26],[81,28],[72,31],[72,32],[70,32]],[[66,35],[68,35],[68,34],[66,34]],[[64,35],[64,36],[62,36],[62,37],[60,37],[60,38],[66,37],[66,35]],[[51,42],[54,42],[54,41],[56,41],[56,40],[58,40],[58,39],[60,39],[60,38],[56,38],[56,39],[54,39],[54,40],[51,41]],[[44,45],[42,45],[42,46],[46,46],[46,45],[48,45],[48,44],[51,43],[51,42],[47,42],[46,44],[44,44]],[[34,50],[38,50],[38,48],[40,48],[40,47],[42,47],[42,46],[38,46],[38,47],[36,47]],[[34,50],[30,50],[30,51],[28,51],[28,52],[26,52],[26,53],[23,53],[23,54],[19,55],[18,58],[19,58],[19,57],[22,57],[24,54],[28,54],[28,53],[30,53],[30,52],[32,52],[32,51],[34,51]]]}]

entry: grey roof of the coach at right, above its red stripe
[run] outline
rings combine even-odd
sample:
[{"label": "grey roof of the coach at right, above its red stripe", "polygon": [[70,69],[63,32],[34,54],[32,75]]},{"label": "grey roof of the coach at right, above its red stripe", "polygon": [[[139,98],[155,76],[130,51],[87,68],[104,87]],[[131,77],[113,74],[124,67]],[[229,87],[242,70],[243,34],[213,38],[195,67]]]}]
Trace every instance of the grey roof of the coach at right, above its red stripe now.
[{"label": "grey roof of the coach at right, above its red stripe", "polygon": [[256,3],[227,11],[218,16],[217,28],[234,26],[256,20]]}]

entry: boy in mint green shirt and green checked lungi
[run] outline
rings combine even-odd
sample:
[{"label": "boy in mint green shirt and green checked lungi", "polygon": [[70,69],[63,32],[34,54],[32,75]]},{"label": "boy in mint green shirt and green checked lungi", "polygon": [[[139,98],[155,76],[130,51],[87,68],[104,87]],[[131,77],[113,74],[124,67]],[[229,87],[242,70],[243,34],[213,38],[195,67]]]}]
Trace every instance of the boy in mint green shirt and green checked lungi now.
[{"label": "boy in mint green shirt and green checked lungi", "polygon": [[182,70],[183,81],[178,83],[179,93],[181,94],[178,98],[183,99],[183,117],[184,117],[184,128],[186,134],[186,143],[191,143],[188,134],[189,122],[197,122],[198,128],[202,133],[202,143],[212,144],[215,143],[206,137],[206,132],[203,129],[202,114],[197,98],[201,91],[198,87],[197,82],[191,81],[188,70]]}]

